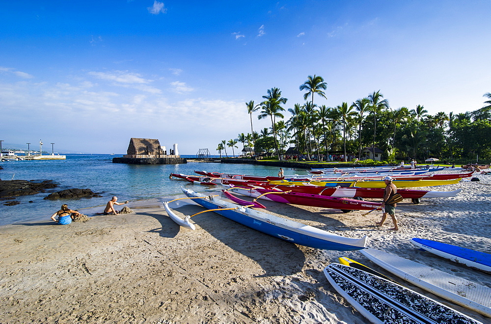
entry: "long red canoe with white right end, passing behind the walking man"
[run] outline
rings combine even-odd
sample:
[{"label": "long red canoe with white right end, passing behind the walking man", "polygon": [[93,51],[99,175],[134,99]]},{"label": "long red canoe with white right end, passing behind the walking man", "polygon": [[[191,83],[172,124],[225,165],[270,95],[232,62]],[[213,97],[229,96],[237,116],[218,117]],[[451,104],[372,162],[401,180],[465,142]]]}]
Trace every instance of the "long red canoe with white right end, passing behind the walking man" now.
[{"label": "long red canoe with white right end, passing behind the walking man", "polygon": [[[269,184],[256,184],[254,187],[260,187],[264,189],[277,189],[281,191],[292,191],[304,194],[339,197],[339,198],[374,198],[382,199],[385,189],[383,188],[359,188],[359,187],[322,187],[322,186],[277,186]],[[397,193],[404,199],[421,199],[421,198],[445,198],[456,197],[462,189],[453,191],[429,191],[429,190],[415,190],[415,189],[397,189]],[[413,201],[414,202],[414,201]],[[419,202],[419,201],[418,201]]]}]

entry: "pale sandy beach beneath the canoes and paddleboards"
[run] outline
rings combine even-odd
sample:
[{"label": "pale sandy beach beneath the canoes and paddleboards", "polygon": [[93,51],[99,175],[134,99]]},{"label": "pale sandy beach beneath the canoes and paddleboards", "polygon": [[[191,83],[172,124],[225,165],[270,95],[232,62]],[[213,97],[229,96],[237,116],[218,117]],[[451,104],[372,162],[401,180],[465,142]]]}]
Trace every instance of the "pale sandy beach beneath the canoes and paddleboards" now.
[{"label": "pale sandy beach beneath the canoes and paddleboards", "polygon": [[[270,213],[348,237],[368,246],[491,287],[491,275],[420,251],[420,237],[491,251],[490,175],[432,187],[462,188],[455,198],[398,204],[400,231],[382,227],[381,212],[261,202]],[[196,191],[204,191],[194,186]],[[213,212],[180,228],[157,201],[133,214],[97,216],[59,226],[46,221],[0,227],[0,322],[368,323],[329,285],[322,270],[348,256],[388,274],[359,252],[327,251],[284,242]],[[202,207],[180,203],[194,214]],[[84,209],[87,215],[95,209]],[[491,319],[447,302],[388,274],[419,293],[483,323]]]}]

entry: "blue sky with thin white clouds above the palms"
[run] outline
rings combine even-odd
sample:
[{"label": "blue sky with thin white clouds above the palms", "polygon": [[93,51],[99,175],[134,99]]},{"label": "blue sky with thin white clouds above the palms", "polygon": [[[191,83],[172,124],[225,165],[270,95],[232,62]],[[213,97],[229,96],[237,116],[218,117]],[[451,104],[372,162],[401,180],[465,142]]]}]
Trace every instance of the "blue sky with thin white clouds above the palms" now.
[{"label": "blue sky with thin white clouds above the palms", "polygon": [[278,87],[291,108],[314,74],[318,104],[380,89],[391,108],[475,110],[491,91],[490,12],[489,0],[0,1],[0,139],[215,153],[250,132],[246,101]]}]

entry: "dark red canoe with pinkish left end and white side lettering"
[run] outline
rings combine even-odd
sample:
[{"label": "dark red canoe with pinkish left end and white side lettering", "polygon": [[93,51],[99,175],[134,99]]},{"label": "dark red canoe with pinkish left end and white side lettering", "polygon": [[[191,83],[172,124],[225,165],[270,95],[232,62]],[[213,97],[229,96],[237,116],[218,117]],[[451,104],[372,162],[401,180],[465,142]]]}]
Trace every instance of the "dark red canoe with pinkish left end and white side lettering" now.
[{"label": "dark red canoe with pinkish left end and white side lettering", "polygon": [[302,206],[341,209],[343,212],[349,212],[352,210],[372,210],[380,208],[382,206],[380,202],[302,194],[298,192],[288,191],[278,192],[277,190],[260,188],[247,189],[241,187],[232,187],[231,189],[229,189],[229,191],[252,198],[271,200],[281,203],[291,203],[294,205]]}]

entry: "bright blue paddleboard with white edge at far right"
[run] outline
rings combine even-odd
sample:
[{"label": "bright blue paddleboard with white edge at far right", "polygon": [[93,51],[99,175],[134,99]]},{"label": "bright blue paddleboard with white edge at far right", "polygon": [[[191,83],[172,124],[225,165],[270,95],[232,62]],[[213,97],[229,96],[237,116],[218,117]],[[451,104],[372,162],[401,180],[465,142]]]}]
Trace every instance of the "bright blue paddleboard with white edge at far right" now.
[{"label": "bright blue paddleboard with white edge at far right", "polygon": [[412,238],[411,243],[420,249],[427,250],[454,262],[491,272],[491,254],[419,238]]}]

